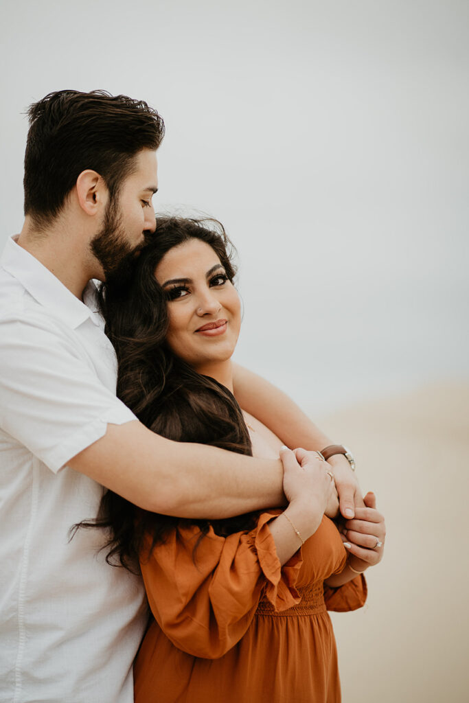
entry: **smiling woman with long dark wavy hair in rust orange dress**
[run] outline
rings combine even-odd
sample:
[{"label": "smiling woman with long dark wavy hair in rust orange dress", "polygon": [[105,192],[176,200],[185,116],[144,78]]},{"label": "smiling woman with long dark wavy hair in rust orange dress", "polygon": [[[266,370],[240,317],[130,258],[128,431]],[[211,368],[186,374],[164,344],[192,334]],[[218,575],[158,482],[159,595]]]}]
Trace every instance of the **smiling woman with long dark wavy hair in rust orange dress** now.
[{"label": "smiling woman with long dark wavy hair in rust orange dress", "polygon": [[159,218],[132,274],[102,299],[122,400],[169,439],[288,453],[289,501],[283,512],[208,522],[137,511],[106,494],[100,524],[113,528],[110,556],[127,566],[139,558],[153,614],[135,664],[136,703],[338,702],[326,607],[364,604],[366,554],[382,554],[385,534],[374,496],[348,524],[364,560],[347,560],[345,538],[324,515],[329,465],[318,456],[302,468],[301,450],[282,449],[239,408],[231,355],[240,301],[219,223]]}]

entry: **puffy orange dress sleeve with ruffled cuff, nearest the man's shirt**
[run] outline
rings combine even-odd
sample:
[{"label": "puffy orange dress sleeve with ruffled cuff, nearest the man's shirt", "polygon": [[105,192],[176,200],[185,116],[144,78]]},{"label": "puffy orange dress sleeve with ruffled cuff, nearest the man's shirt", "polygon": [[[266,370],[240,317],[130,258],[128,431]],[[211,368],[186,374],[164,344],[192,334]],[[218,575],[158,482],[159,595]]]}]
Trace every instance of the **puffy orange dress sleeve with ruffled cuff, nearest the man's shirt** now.
[{"label": "puffy orange dress sleeve with ruffled cuff, nearest the man's shirt", "polygon": [[262,595],[276,610],[300,602],[298,558],[282,569],[263,513],[252,531],[224,538],[182,524],[158,544],[141,571],[150,607],[162,631],[194,657],[217,659],[251,624]]}]

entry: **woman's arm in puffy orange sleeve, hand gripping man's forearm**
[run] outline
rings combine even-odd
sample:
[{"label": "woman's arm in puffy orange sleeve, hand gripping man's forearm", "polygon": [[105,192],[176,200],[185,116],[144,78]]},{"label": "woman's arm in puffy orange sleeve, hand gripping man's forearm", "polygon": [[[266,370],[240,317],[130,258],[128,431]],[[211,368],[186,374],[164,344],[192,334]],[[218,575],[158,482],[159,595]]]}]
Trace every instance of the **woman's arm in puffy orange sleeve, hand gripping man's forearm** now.
[{"label": "woman's arm in puffy orange sleeve, hand gripping man's forearm", "polygon": [[319,527],[331,482],[325,462],[298,458],[303,465],[283,449],[284,490],[291,501],[278,517],[263,513],[249,532],[221,537],[211,529],[202,539],[198,527],[180,524],[142,555],[151,610],[179,649],[194,657],[221,657],[245,634],[262,594],[278,611],[300,601],[295,590],[300,556],[281,565]]}]

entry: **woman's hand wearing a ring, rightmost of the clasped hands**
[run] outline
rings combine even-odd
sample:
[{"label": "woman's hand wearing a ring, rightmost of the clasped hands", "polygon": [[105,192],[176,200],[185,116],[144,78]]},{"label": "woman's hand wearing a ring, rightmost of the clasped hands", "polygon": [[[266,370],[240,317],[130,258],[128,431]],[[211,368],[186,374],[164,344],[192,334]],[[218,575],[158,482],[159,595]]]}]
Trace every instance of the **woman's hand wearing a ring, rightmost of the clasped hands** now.
[{"label": "woman's hand wearing a ring, rightmost of the clasped hands", "polygon": [[349,552],[349,564],[356,571],[364,571],[383,559],[385,548],[385,519],[376,510],[374,493],[364,498],[365,508],[355,508],[354,520],[347,520],[342,540]]}]

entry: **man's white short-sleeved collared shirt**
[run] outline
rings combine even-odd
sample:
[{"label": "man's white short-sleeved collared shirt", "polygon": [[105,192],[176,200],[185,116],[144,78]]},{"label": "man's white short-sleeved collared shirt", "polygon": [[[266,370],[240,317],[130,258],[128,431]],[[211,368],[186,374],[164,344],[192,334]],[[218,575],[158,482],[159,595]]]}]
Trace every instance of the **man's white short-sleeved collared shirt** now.
[{"label": "man's white short-sleeved collared shirt", "polygon": [[0,262],[0,701],[130,703],[141,580],[105,563],[103,488],[67,462],[134,420],[93,309],[8,240]]}]

